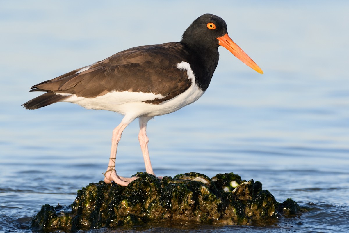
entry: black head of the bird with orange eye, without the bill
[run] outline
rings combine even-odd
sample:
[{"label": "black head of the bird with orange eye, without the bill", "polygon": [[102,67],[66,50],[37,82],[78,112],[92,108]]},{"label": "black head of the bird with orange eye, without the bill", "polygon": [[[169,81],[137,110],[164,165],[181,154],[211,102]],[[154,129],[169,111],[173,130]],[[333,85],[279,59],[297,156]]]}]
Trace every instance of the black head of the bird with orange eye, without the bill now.
[{"label": "black head of the bird with orange eye, without the bill", "polygon": [[[218,48],[217,37],[227,34],[225,21],[213,14],[201,15],[185,30],[181,43],[190,48]],[[201,50],[201,49],[200,49]]]}]

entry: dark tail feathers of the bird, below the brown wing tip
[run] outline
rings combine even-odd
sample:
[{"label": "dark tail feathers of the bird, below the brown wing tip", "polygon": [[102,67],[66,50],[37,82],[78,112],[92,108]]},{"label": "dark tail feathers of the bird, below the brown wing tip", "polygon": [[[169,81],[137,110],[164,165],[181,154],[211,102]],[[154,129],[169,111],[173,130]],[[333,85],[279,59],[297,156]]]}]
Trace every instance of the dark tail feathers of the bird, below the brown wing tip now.
[{"label": "dark tail feathers of the bird, below the brown wing tip", "polygon": [[25,109],[38,109],[50,105],[55,102],[60,102],[67,99],[69,96],[66,95],[56,95],[53,92],[48,92],[40,95],[27,103],[22,104]]}]

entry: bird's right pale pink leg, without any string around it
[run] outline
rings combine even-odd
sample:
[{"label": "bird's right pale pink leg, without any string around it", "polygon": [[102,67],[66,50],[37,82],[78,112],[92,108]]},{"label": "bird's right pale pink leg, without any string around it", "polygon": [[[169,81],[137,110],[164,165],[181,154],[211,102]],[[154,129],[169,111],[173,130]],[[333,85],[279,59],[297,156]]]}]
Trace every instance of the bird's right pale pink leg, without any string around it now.
[{"label": "bird's right pale pink leg, without any string around it", "polygon": [[140,117],[139,118],[139,134],[138,134],[138,140],[139,144],[141,146],[143,158],[144,158],[144,164],[146,165],[146,172],[148,174],[152,174],[155,176],[153,172],[153,168],[151,167],[151,162],[150,162],[150,156],[149,156],[149,151],[148,151],[148,142],[149,138],[147,137],[147,123],[150,119],[153,117]]}]

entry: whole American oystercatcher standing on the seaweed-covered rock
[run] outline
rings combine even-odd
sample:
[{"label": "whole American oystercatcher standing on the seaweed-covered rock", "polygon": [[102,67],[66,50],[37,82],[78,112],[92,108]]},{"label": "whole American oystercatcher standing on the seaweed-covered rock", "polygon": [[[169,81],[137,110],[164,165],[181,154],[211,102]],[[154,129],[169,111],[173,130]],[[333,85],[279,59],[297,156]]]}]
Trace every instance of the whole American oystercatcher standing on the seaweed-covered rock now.
[{"label": "whole American oystercatcher standing on the seaweed-covered rock", "polygon": [[198,100],[210,84],[223,46],[253,70],[263,73],[228,36],[227,24],[213,14],[201,15],[185,30],[180,42],[139,46],[92,65],[32,86],[46,92],[23,106],[38,109],[55,102],[77,103],[124,115],[113,130],[104,181],[127,185],[137,177],[116,173],[116,152],[122,131],[139,118],[139,143],[146,172],[154,174],[148,152],[146,127],[154,116],[168,114]]}]

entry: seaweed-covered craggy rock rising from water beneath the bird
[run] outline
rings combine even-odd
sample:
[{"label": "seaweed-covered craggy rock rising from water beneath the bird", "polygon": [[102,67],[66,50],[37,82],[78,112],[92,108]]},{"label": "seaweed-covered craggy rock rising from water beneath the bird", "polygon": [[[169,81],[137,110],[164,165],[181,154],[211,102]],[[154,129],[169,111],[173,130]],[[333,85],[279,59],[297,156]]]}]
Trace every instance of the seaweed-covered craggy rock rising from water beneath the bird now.
[{"label": "seaweed-covered craggy rock rising from water beneath the bird", "polygon": [[32,229],[77,231],[160,220],[251,225],[278,213],[303,211],[292,199],[278,203],[268,190],[262,190],[260,182],[241,180],[233,173],[212,179],[199,173],[162,180],[147,173],[137,175],[139,178],[126,187],[91,183],[77,192],[70,206],[43,205]]}]

